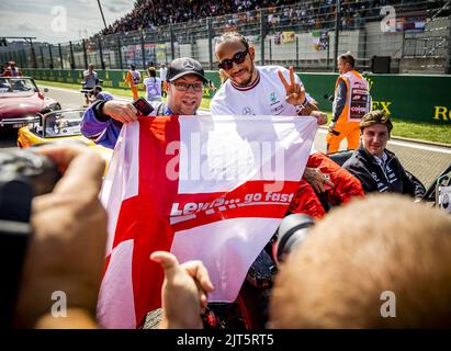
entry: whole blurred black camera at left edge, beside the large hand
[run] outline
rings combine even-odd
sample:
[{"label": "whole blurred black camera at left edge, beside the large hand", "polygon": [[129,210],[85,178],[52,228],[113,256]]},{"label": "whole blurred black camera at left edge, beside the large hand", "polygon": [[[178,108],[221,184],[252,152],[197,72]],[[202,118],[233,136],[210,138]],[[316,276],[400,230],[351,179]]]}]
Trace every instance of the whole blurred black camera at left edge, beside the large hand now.
[{"label": "whole blurred black camera at left edge, beside the large hand", "polygon": [[56,165],[31,150],[0,151],[0,328],[11,327],[29,239],[32,200],[60,178]]}]

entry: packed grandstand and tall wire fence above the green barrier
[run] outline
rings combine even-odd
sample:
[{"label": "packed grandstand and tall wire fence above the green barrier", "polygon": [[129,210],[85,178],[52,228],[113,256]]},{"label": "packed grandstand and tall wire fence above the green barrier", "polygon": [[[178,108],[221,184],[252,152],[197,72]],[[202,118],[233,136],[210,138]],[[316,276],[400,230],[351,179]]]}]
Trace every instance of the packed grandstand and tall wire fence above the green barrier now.
[{"label": "packed grandstand and tall wire fence above the green barrier", "polygon": [[[59,45],[2,48],[2,61],[29,68],[138,68],[191,56],[214,69],[214,39],[239,31],[258,64],[332,71],[350,50],[362,70],[388,58],[387,72],[451,73],[451,1],[142,0],[94,36]],[[375,57],[375,58],[374,58]]]}]

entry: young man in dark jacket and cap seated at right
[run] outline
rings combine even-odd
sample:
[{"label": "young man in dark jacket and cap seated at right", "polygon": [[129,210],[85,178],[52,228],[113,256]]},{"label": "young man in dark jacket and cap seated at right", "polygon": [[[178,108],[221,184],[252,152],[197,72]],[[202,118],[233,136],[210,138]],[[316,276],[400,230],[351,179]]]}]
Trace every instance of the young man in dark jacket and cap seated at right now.
[{"label": "young man in dark jacket and cap seated at right", "polygon": [[385,112],[367,113],[360,122],[360,146],[343,168],[360,180],[365,193],[393,192],[420,201],[426,192],[425,186],[406,172],[395,154],[385,148],[392,128]]}]

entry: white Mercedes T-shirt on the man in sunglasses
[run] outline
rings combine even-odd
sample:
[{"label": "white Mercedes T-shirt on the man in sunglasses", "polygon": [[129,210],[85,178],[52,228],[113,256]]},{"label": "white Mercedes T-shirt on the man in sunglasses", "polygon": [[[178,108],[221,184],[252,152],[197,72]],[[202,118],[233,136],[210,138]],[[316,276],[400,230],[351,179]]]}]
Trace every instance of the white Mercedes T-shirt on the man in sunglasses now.
[{"label": "white Mercedes T-shirt on the man in sunglasses", "polygon": [[[297,115],[296,107],[285,101],[285,87],[278,75],[279,70],[282,71],[290,83],[290,71],[281,66],[256,69],[259,77],[251,86],[240,88],[227,80],[221,87],[210,105],[212,115]],[[294,79],[303,87],[296,75]],[[311,97],[306,97],[311,101]]]}]

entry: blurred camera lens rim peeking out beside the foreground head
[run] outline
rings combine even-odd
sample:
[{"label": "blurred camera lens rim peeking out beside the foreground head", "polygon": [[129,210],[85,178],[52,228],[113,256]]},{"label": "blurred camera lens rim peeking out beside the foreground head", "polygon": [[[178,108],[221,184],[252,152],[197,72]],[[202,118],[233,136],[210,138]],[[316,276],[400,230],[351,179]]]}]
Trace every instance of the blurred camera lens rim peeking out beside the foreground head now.
[{"label": "blurred camera lens rim peeking out beside the foreground head", "polygon": [[300,213],[283,218],[278,228],[278,240],[273,251],[275,262],[283,262],[286,256],[305,240],[314,224],[313,217]]}]

